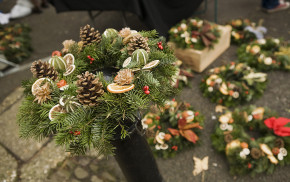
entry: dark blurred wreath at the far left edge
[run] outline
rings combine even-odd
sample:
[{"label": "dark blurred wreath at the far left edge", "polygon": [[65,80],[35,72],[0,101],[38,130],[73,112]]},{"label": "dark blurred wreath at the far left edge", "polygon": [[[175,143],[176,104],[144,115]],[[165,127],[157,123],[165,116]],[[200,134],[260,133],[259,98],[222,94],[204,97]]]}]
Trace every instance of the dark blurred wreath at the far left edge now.
[{"label": "dark blurred wreath at the far left edge", "polygon": [[0,25],[0,53],[7,60],[20,63],[32,52],[30,28],[25,24]]}]

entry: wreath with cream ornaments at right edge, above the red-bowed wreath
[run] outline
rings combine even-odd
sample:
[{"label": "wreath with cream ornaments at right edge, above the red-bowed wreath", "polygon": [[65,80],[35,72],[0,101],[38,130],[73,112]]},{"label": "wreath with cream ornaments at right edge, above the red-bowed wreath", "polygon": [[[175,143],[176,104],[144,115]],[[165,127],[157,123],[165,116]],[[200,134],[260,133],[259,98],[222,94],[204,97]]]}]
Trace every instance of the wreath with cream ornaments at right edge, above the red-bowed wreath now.
[{"label": "wreath with cream ornaments at right edge, above the red-bowed wreath", "polygon": [[238,49],[240,62],[261,71],[290,70],[290,47],[282,46],[279,39],[259,39]]}]

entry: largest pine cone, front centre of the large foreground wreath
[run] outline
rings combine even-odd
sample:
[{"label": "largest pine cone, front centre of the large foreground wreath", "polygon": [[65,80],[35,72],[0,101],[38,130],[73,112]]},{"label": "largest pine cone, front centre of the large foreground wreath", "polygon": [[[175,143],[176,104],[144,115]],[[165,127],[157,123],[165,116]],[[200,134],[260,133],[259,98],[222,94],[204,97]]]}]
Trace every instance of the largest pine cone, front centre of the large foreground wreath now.
[{"label": "largest pine cone, front centre of the large foreground wreath", "polygon": [[82,75],[78,75],[78,99],[79,102],[87,106],[96,106],[98,97],[103,95],[103,84],[96,78],[96,75],[86,71]]}]

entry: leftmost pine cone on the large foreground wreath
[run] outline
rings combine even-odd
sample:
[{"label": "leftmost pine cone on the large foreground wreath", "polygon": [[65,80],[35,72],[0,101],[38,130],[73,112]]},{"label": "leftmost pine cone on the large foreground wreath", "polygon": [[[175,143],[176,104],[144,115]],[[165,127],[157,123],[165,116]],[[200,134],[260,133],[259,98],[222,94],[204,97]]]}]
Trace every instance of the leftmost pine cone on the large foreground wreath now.
[{"label": "leftmost pine cone on the large foreground wreath", "polygon": [[36,78],[48,77],[52,80],[57,79],[58,72],[48,63],[41,60],[34,61],[30,67],[30,71]]}]

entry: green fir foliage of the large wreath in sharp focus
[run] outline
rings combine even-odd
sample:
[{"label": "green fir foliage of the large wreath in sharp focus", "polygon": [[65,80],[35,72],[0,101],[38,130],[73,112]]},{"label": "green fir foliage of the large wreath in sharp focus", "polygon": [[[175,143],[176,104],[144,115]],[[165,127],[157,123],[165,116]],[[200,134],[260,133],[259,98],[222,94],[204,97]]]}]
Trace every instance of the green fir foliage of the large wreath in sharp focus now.
[{"label": "green fir foliage of the large wreath in sharp focus", "polygon": [[[112,154],[112,141],[128,137],[128,128],[134,124],[140,111],[147,109],[150,104],[164,105],[165,100],[175,93],[170,83],[176,72],[173,52],[155,30],[142,31],[140,34],[148,37],[150,53],[147,62],[159,60],[160,64],[151,70],[139,68],[135,71],[132,82],[135,87],[131,91],[111,93],[107,90],[117,71],[122,68],[123,61],[129,57],[127,45],[120,36],[114,39],[103,36],[99,44],[85,47],[77,43],[70,46],[68,50],[75,57],[76,69],[68,76],[60,72],[56,81],[49,82],[51,99],[44,104],[37,104],[31,92],[36,78],[23,81],[26,97],[18,113],[20,135],[37,139],[53,136],[58,145],[65,146],[67,151],[76,155],[84,154],[89,149],[95,149],[100,155]],[[158,48],[157,43],[160,41],[163,50]],[[78,102],[77,75],[85,71],[95,73],[103,85],[104,94],[98,97],[95,107]],[[67,82],[66,89],[58,88],[60,80]],[[146,85],[150,87],[149,95],[143,91]],[[65,110],[66,107],[60,106],[62,111],[54,113],[50,120],[48,116],[51,108],[60,104],[62,97],[75,97],[77,109]]]}]

